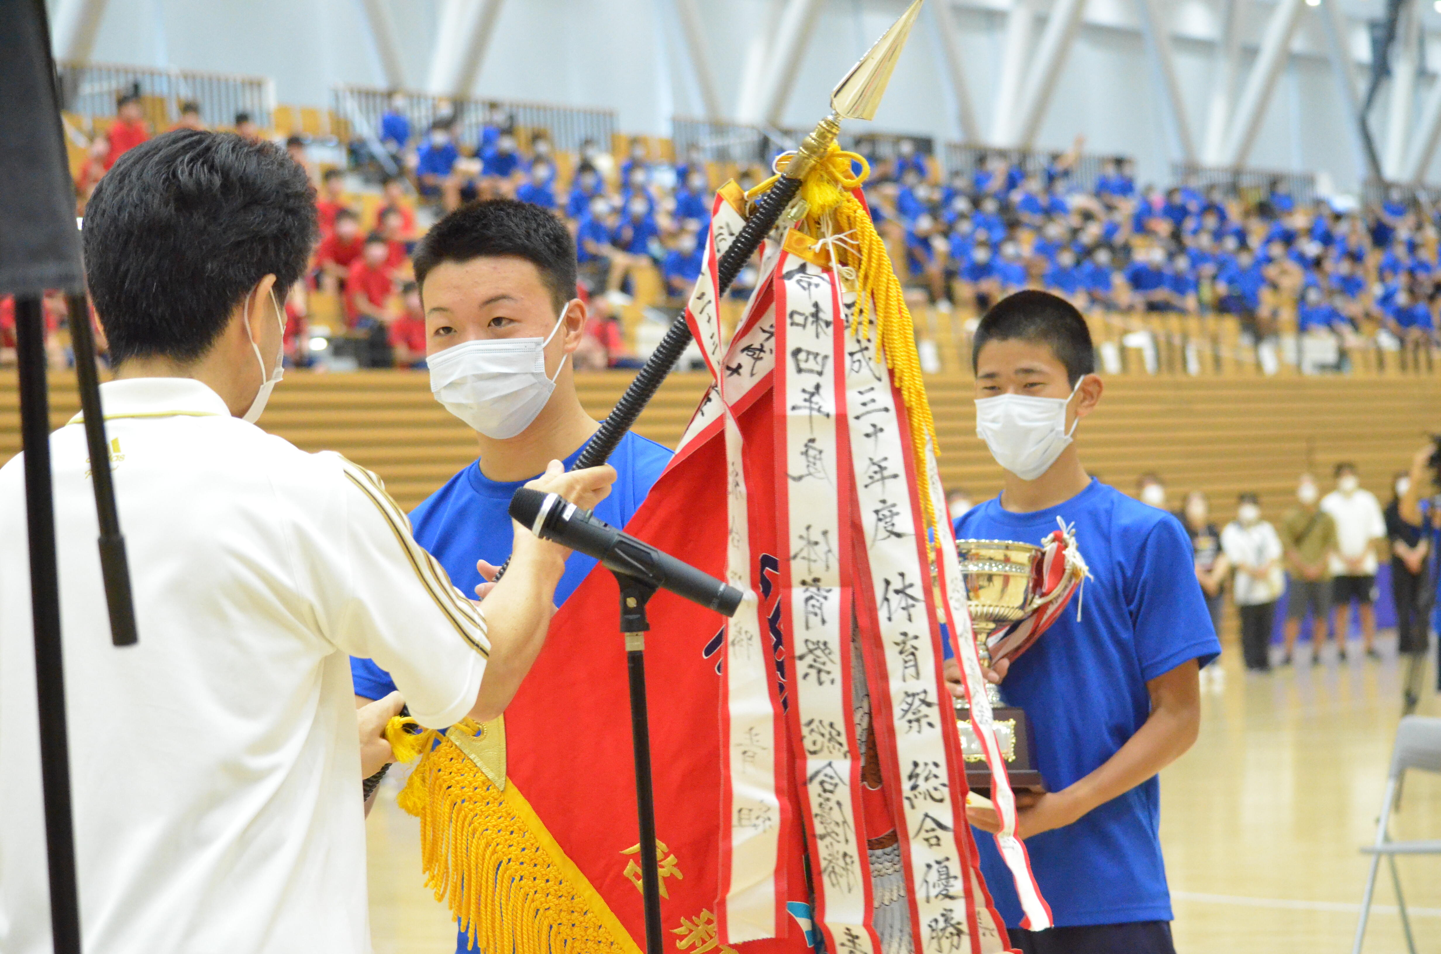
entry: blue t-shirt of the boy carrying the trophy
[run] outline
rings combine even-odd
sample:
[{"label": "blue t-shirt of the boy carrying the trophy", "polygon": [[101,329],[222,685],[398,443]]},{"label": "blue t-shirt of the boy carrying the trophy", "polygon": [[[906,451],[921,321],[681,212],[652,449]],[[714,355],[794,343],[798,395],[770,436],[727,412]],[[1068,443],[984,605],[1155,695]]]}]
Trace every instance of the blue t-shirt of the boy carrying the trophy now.
[{"label": "blue t-shirt of the boy carrying the trophy", "polygon": [[[1147,680],[1221,653],[1196,582],[1195,548],[1180,522],[1092,480],[1056,507],[1010,513],[987,500],[957,520],[957,536],[1039,543],[1056,517],[1075,525],[1091,568],[1061,617],[1017,657],[1001,696],[1036,734],[1046,788],[1095,771],[1150,716]],[[1078,621],[1076,617],[1081,615]],[[1026,852],[1059,927],[1170,921],[1160,843],[1160,780],[1098,806],[1074,824],[1026,839]],[[1007,925],[1020,902],[996,840],[976,833],[981,869]]]}]

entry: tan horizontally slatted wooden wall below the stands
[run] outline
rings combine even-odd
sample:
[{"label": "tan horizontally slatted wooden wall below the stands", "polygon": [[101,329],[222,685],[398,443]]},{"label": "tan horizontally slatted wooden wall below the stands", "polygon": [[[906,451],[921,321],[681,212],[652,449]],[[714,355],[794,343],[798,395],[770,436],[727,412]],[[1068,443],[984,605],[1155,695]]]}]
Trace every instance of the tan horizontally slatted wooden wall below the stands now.
[{"label": "tan horizontally slatted wooden wall below the stands", "polygon": [[[576,378],[586,409],[602,416],[630,382],[607,372]],[[709,378],[672,375],[641,416],[641,434],[673,447]],[[1271,517],[1291,506],[1295,478],[1314,470],[1323,487],[1340,460],[1360,467],[1362,484],[1382,500],[1391,477],[1409,465],[1425,435],[1441,432],[1441,378],[1170,378],[1117,375],[1105,380],[1097,414],[1079,431],[1087,467],[1134,491],[1136,477],[1157,471],[1172,504],[1205,490],[1221,519],[1235,513],[1242,490],[1261,494]],[[1000,489],[1001,471],[976,438],[973,382],[961,375],[928,379],[947,487],[981,500]],[[78,409],[75,379],[58,375],[52,424]],[[13,372],[0,372],[0,463],[19,451]],[[264,427],[305,450],[334,450],[380,474],[409,509],[476,457],[474,435],[429,393],[414,372],[295,373],[275,389]]]}]

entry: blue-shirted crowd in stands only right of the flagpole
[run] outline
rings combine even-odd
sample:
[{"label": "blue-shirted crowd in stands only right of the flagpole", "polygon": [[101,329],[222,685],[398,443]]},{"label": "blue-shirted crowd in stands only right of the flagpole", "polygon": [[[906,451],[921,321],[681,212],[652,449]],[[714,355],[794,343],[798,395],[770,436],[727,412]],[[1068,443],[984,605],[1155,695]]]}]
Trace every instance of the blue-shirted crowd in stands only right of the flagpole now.
[{"label": "blue-shirted crowd in stands only right of the flagpole", "polygon": [[1102,311],[1232,314],[1257,340],[1435,343],[1438,210],[1399,195],[1301,203],[1282,179],[1246,196],[1140,189],[1124,159],[1084,184],[1076,160],[1027,171],[991,153],[942,176],[898,157],[867,193],[909,282],[942,308],[1039,287]]}]

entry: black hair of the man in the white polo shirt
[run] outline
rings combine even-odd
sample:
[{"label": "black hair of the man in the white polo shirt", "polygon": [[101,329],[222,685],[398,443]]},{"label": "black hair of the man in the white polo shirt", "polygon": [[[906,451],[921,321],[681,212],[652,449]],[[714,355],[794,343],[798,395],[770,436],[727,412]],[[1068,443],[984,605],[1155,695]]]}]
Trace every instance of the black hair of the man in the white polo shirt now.
[{"label": "black hair of the man in the white polo shirt", "polygon": [[205,355],[265,275],[305,271],[316,192],[285,150],[174,130],[128,150],[85,206],[85,275],[111,357]]}]

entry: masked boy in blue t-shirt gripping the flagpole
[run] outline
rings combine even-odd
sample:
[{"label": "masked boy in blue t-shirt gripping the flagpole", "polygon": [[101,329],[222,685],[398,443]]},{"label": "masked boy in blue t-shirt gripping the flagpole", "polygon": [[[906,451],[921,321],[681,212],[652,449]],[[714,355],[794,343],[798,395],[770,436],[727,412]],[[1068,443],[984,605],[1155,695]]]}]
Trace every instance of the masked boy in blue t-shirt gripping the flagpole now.
[{"label": "masked boy in blue t-shirt gripping the flagpole", "polygon": [[[575,297],[575,244],[550,212],[510,199],[464,206],[425,235],[415,278],[425,310],[431,389],[447,411],[476,431],[480,457],[411,513],[415,539],[461,591],[478,588],[510,555],[512,494],[561,461],[574,465],[597,422],[581,406],[571,355],[585,333],[585,304]],[[526,346],[543,370],[497,357]],[[624,526],[670,460],[670,451],[637,434],[621,438],[610,464],[610,496],[595,506]],[[595,568],[571,553],[555,591],[558,604]],[[395,689],[389,673],[352,659],[356,702]],[[458,951],[467,950],[465,935]]]}]

